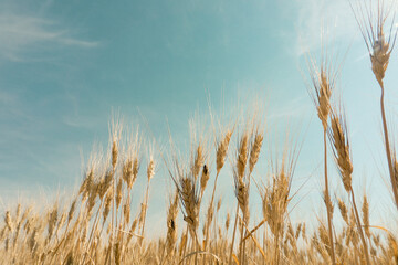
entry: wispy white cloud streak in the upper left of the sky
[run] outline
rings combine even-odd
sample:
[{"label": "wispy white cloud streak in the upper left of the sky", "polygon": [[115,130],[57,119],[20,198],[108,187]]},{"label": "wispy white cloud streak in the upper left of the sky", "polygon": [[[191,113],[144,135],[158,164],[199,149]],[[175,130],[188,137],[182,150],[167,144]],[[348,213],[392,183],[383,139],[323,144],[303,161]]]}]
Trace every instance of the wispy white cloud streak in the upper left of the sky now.
[{"label": "wispy white cloud streak in the upper left of the sky", "polygon": [[74,38],[73,33],[73,30],[49,19],[0,13],[0,60],[24,61],[28,51],[43,44],[82,49],[95,47],[100,44]]}]

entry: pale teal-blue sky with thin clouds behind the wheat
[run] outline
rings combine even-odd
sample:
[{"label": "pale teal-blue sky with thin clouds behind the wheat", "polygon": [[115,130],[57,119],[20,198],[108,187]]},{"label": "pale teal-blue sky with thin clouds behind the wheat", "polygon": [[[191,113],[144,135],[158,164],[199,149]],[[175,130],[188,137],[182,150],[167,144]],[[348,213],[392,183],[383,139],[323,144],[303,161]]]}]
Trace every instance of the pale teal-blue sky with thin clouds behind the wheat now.
[{"label": "pale teal-blue sky with thin clouds behind the wheat", "polygon": [[[381,219],[390,197],[383,180],[379,88],[345,0],[0,1],[2,201],[73,190],[93,144],[106,146],[112,110],[144,128],[139,109],[157,138],[167,139],[168,123],[175,138],[188,139],[188,119],[196,110],[207,115],[210,95],[216,113],[260,98],[275,135],[287,124],[302,125],[295,184],[310,178],[302,208],[320,211],[322,131],[301,71],[306,74],[306,52],[320,54],[322,25],[344,60],[338,89],[354,186],[375,198],[370,214]],[[395,73],[397,53],[386,77],[392,124]],[[329,168],[344,195],[332,160]],[[159,170],[153,190],[161,190],[166,178]],[[164,199],[153,203],[150,211],[164,215]]]}]

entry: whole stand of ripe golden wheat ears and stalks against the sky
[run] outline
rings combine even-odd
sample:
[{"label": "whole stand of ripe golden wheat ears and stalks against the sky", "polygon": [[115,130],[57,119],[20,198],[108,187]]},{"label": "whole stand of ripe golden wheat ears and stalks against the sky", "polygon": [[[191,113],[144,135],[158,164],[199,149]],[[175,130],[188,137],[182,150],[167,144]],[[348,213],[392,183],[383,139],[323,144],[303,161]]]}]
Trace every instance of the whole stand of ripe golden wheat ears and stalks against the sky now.
[{"label": "whole stand of ripe golden wheat ears and stalks against the sky", "polygon": [[[381,89],[384,148],[396,205],[392,211],[398,211],[398,161],[389,140],[383,83],[397,30],[394,20],[386,25],[390,9],[380,2],[377,11],[364,2],[352,4],[352,8]],[[188,158],[178,156],[171,142],[167,151],[159,151],[157,156],[157,145],[149,145],[145,160],[142,150],[146,146],[138,130],[124,139],[122,125],[116,120],[111,126],[107,155],[105,158],[98,153],[92,156],[78,192],[70,203],[57,200],[45,210],[18,204],[14,210],[4,211],[0,223],[0,263],[398,265],[398,236],[391,232],[398,227],[397,220],[390,221],[389,229],[370,224],[366,194],[359,200],[362,205],[354,194],[354,165],[344,108],[331,100],[339,67],[328,56],[321,56],[318,61],[311,55],[307,59],[308,89],[324,132],[322,193],[327,221],[318,220],[316,229],[306,230],[305,223],[293,223],[289,218],[293,197],[291,183],[298,153],[295,145],[290,142],[279,159],[270,159],[266,179],[253,173],[264,140],[264,124],[256,118],[259,115],[245,117],[243,126],[231,123],[212,136],[192,137]],[[232,150],[234,140],[237,148]],[[208,142],[214,148],[209,148]],[[347,193],[345,199],[331,197],[328,147]],[[166,235],[149,240],[145,236],[149,183],[161,165],[170,180],[164,224]],[[230,165],[231,170],[226,170],[226,165]],[[222,200],[217,195],[217,184],[221,171],[232,172],[234,211],[220,210]],[[144,176],[147,178],[145,195],[133,213],[134,184]],[[206,190],[209,181],[212,189]],[[251,214],[249,209],[253,183],[256,189],[252,190],[258,191],[258,202],[262,205],[261,216]],[[203,201],[203,197],[207,200]],[[205,209],[202,201],[207,203]],[[338,229],[333,218],[335,205],[344,221]],[[220,218],[221,213],[227,216]],[[179,214],[184,219],[179,219]],[[252,221],[253,215],[260,221]]]}]

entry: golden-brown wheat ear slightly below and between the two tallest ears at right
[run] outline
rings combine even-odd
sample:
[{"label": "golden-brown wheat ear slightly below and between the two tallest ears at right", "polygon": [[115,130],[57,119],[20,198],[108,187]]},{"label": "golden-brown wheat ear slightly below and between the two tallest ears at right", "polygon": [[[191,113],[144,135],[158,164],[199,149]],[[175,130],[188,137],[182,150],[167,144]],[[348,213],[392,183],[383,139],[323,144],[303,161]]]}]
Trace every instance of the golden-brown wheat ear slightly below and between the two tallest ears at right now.
[{"label": "golden-brown wheat ear slightly below and between the two tallest ears at right", "polygon": [[353,163],[350,159],[349,141],[347,136],[347,126],[344,114],[331,113],[331,127],[327,130],[329,140],[333,145],[333,155],[335,157],[344,189],[349,193],[352,190]]}]

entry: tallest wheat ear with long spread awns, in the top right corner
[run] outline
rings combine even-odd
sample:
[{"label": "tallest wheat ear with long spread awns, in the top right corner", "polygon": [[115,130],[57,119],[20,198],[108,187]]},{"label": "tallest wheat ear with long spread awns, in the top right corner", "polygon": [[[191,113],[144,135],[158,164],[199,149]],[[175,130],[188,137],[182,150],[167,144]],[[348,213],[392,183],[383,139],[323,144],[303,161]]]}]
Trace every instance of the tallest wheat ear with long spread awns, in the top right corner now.
[{"label": "tallest wheat ear with long spread awns, in the top right corner", "polygon": [[[387,8],[384,1],[378,0],[376,14],[373,11],[375,7],[373,7],[371,1],[358,1],[357,4],[350,2],[350,7],[369,51],[371,71],[377,82],[383,86],[383,78],[385,77],[398,31],[395,24],[395,13],[386,25],[392,6]],[[386,35],[386,31],[388,35]]]}]

